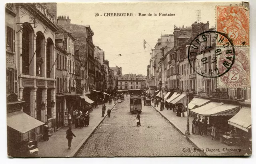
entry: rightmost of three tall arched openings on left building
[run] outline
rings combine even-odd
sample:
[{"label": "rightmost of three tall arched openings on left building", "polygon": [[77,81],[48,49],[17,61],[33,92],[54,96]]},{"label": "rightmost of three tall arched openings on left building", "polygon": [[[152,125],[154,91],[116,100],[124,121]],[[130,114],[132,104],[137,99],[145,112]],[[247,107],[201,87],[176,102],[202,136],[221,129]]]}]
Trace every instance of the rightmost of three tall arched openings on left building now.
[{"label": "rightmost of three tall arched openings on left building", "polygon": [[53,77],[52,71],[50,70],[54,63],[53,48],[54,48],[54,43],[53,43],[52,39],[50,37],[48,37],[47,44],[46,44],[46,77],[47,78]]}]

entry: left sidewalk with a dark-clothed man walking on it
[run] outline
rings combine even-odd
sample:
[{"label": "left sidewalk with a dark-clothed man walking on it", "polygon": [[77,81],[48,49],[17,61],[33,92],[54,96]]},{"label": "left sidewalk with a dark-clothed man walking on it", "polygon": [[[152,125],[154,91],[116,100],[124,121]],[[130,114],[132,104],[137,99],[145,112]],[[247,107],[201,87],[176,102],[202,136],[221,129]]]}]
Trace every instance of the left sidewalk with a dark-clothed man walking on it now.
[{"label": "left sidewalk with a dark-clothed man walking on it", "polygon": [[[114,107],[114,102],[112,104],[105,103],[106,109]],[[105,114],[105,117],[107,114]],[[66,130],[68,127],[63,127],[49,137],[49,141],[38,142],[38,157],[72,157],[76,154],[82,144],[88,139],[92,134],[94,129],[102,122],[105,118],[102,117],[102,105],[100,108],[93,108],[90,113],[90,125],[88,127],[83,127],[82,129],[74,128],[72,124],[72,131],[76,135],[73,137],[71,150],[68,150],[68,140],[66,139]]]}]

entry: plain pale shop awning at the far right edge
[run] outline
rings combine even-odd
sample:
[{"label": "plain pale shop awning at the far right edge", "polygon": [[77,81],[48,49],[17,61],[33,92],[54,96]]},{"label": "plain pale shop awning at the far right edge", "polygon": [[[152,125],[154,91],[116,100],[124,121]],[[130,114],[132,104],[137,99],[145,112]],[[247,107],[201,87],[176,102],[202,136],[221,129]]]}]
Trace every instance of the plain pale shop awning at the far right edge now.
[{"label": "plain pale shop awning at the far right edge", "polygon": [[251,108],[242,107],[234,117],[228,120],[228,124],[248,132],[252,127]]}]

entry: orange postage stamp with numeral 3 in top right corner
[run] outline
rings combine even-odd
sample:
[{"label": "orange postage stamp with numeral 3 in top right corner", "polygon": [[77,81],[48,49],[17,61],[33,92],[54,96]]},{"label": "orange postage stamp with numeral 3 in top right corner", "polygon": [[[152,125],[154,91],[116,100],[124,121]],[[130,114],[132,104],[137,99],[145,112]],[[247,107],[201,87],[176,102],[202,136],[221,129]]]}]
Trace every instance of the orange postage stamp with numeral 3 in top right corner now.
[{"label": "orange postage stamp with numeral 3 in top right corner", "polygon": [[226,33],[234,46],[250,45],[249,9],[244,6],[217,6],[216,23],[217,31]]}]

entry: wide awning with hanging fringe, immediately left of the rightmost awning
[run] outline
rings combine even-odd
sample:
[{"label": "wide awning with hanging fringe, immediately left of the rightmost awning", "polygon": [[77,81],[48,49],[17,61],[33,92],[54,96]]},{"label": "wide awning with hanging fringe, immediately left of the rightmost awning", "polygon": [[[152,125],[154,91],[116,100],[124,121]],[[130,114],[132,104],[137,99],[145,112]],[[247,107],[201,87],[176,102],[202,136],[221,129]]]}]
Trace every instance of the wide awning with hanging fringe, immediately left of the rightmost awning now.
[{"label": "wide awning with hanging fringe, immediately left of the rightmost awning", "polygon": [[220,106],[201,112],[203,116],[235,115],[241,109],[240,105],[224,103]]}]

